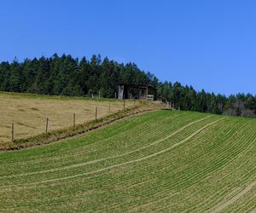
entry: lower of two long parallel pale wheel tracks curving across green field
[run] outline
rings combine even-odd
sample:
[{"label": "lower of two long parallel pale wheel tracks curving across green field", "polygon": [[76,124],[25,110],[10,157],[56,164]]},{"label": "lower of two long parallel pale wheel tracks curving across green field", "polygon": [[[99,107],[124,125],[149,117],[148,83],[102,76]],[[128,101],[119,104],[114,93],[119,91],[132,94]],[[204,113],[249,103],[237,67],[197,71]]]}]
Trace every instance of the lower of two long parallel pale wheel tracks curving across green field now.
[{"label": "lower of two long parallel pale wheel tracks curving across green field", "polygon": [[[65,177],[60,177],[60,178],[54,178],[54,179],[49,179],[49,180],[45,180],[45,181],[36,181],[36,182],[32,182],[32,183],[28,183],[28,184],[23,184],[21,185],[20,187],[28,187],[28,186],[35,186],[37,184],[44,184],[44,183],[49,183],[49,182],[54,182],[54,181],[65,181],[65,180],[69,180],[69,179],[72,179],[72,178],[76,178],[76,177],[80,177],[80,176],[87,176],[87,175],[91,175],[91,174],[95,174],[97,172],[101,172],[101,171],[104,171],[104,170],[111,170],[111,169],[114,169],[114,168],[118,168],[119,166],[124,166],[124,165],[127,165],[127,164],[134,164],[134,163],[137,163],[137,162],[140,162],[140,161],[143,161],[143,160],[146,160],[148,158],[153,158],[157,155],[160,155],[162,153],[166,153],[170,150],[172,150],[173,148],[175,147],[178,147],[180,145],[182,145],[184,142],[186,141],[189,141],[191,138],[193,138],[195,135],[198,135],[199,133],[201,133],[201,131],[203,130],[206,130],[209,126],[211,126],[212,124],[216,124],[218,123],[220,120],[223,120],[224,118],[219,118],[218,120],[215,120],[209,124],[206,124],[204,125],[203,127],[201,127],[201,129],[199,130],[195,130],[194,133],[192,133],[191,135],[187,136],[186,138],[184,138],[182,141],[179,141],[175,144],[173,144],[171,147],[167,147],[165,149],[162,149],[160,150],[159,152],[156,152],[156,153],[152,153],[152,154],[149,154],[147,156],[144,156],[143,158],[137,158],[137,159],[134,159],[134,160],[131,160],[131,161],[127,161],[125,163],[121,163],[121,164],[113,164],[111,166],[108,166],[108,167],[105,167],[105,168],[102,168],[102,169],[99,169],[99,170],[92,170],[92,171],[89,171],[89,172],[85,172],[85,173],[81,173],[81,174],[78,174],[78,175],[74,175],[74,176],[65,176]],[[161,139],[162,140],[162,139]],[[88,162],[87,162],[88,163]],[[84,163],[85,164],[85,163]],[[13,185],[13,186],[9,186],[9,187],[19,187],[19,185]],[[9,188],[9,187],[1,187],[1,188]]]}]

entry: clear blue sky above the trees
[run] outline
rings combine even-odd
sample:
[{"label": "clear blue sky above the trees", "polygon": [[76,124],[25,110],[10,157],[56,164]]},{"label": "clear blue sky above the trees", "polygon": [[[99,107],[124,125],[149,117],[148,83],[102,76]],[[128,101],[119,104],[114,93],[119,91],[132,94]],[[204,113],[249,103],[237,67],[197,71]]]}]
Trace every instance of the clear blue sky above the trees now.
[{"label": "clear blue sky above the trees", "polygon": [[253,0],[3,0],[0,8],[0,61],[101,54],[162,81],[256,94]]}]

